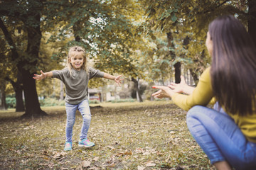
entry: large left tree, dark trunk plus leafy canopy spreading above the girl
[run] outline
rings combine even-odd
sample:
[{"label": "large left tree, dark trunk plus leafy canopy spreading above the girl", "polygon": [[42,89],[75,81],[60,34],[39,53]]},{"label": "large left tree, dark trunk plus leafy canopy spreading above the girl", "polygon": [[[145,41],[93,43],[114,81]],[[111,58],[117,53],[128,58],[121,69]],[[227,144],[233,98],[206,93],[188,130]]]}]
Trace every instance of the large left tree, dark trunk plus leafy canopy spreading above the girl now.
[{"label": "large left tree, dark trunk plus leafy canopy spreading above the girl", "polygon": [[[128,14],[131,11],[133,16]],[[137,2],[129,0],[122,3],[114,0],[1,1],[1,30],[9,45],[12,64],[21,73],[26,103],[24,116],[46,115],[41,111],[36,84],[31,79],[42,64],[46,64],[40,55],[41,38],[46,32],[53,35],[48,42],[74,36],[67,45],[56,47],[59,53],[53,56],[55,60],[63,60],[70,45],[81,45],[97,69],[110,74],[139,75],[134,51],[143,43],[140,36],[134,34],[137,26],[131,24],[134,18],[137,19],[135,14],[138,11]],[[23,35],[23,48],[17,45],[12,30]]]}]

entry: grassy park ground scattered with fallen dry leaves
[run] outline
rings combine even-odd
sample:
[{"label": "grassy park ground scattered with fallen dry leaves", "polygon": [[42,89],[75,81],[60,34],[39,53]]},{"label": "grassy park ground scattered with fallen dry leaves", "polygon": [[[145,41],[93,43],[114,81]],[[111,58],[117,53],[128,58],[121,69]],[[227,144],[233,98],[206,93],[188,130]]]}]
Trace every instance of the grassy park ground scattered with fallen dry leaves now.
[{"label": "grassy park ground scattered with fallen dry leaves", "polygon": [[48,116],[36,119],[1,111],[0,169],[213,169],[186,127],[186,112],[169,101],[91,106],[88,137],[96,145],[78,147],[78,112],[71,152],[63,152],[64,107],[43,108]]}]

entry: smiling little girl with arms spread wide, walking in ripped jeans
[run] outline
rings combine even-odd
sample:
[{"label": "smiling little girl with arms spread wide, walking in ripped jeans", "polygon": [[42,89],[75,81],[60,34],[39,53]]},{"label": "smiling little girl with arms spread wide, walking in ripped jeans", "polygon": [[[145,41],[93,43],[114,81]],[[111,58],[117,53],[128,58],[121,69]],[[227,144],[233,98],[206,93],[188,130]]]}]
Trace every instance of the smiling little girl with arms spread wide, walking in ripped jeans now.
[{"label": "smiling little girl with arms spread wide, walking in ripped jeans", "polygon": [[65,110],[67,113],[66,123],[66,140],[65,151],[72,150],[72,132],[75,124],[75,112],[78,110],[82,115],[82,128],[80,132],[79,147],[92,147],[95,144],[87,139],[87,132],[90,128],[91,113],[87,100],[87,86],[89,79],[93,77],[104,77],[106,79],[114,80],[119,86],[122,84],[119,75],[114,77],[100,70],[88,67],[88,60],[85,55],[85,50],[82,47],[71,47],[68,52],[66,67],[62,70],[54,70],[51,72],[42,72],[41,74],[34,74],[33,79],[42,80],[46,77],[53,77],[60,79],[65,84]]}]

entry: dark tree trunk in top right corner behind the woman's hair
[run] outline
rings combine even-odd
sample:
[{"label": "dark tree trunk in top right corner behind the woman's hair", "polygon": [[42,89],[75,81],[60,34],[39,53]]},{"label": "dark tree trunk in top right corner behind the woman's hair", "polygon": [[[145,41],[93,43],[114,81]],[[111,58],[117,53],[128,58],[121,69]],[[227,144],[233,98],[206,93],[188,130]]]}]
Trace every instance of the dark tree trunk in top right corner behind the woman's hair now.
[{"label": "dark tree trunk in top right corner behind the woman's hair", "polygon": [[248,32],[250,33],[251,38],[256,45],[256,1],[248,0],[248,4],[249,4]]}]

